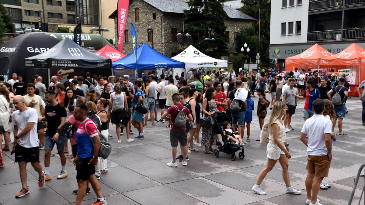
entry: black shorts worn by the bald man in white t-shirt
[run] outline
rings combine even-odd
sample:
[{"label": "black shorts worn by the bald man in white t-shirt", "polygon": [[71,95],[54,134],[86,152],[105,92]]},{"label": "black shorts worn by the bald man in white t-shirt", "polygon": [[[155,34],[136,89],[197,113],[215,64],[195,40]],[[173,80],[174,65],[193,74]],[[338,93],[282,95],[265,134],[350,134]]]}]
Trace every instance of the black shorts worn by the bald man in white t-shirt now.
[{"label": "black shorts worn by the bald man in white t-shirt", "polygon": [[15,162],[39,162],[39,147],[15,146]]}]

